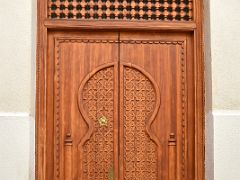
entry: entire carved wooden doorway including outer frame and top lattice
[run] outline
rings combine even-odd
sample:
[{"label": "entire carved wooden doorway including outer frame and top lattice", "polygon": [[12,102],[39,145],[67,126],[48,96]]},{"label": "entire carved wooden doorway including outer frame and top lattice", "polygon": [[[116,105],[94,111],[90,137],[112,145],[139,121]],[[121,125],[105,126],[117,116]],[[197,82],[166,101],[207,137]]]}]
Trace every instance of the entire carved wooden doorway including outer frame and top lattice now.
[{"label": "entire carved wooden doorway including outer frame and top lattice", "polygon": [[39,0],[37,180],[204,179],[201,6]]}]

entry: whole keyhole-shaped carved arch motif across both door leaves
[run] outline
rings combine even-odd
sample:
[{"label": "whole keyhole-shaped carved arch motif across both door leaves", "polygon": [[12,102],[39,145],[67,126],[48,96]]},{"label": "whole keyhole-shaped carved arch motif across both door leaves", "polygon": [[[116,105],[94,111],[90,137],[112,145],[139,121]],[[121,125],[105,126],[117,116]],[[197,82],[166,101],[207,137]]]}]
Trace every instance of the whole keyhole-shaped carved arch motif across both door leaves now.
[{"label": "whole keyhole-shaped carved arch motif across both door leaves", "polygon": [[[117,65],[109,63],[95,69],[79,88],[79,110],[88,125],[88,131],[79,144],[83,160],[82,179],[109,178],[114,155],[114,111],[117,111],[114,98],[120,97],[124,103],[119,107],[120,121],[124,123],[124,136],[120,137],[124,142],[124,177],[156,180],[160,142],[151,131],[151,124],[160,106],[158,86],[143,68],[128,63],[120,63],[120,68],[123,68],[119,72],[120,82],[114,82]],[[118,91],[114,89],[114,83],[121,82],[123,86],[118,87],[123,95],[114,97],[114,91]]]}]

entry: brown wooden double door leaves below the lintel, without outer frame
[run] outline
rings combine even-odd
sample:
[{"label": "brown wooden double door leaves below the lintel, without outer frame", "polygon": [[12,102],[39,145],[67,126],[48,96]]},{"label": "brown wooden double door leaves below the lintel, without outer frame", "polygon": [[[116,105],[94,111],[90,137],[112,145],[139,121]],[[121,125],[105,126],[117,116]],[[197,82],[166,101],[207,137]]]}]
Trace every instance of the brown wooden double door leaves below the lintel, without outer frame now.
[{"label": "brown wooden double door leaves below the lintel, without outer frame", "polygon": [[48,33],[46,175],[194,179],[192,35]]}]

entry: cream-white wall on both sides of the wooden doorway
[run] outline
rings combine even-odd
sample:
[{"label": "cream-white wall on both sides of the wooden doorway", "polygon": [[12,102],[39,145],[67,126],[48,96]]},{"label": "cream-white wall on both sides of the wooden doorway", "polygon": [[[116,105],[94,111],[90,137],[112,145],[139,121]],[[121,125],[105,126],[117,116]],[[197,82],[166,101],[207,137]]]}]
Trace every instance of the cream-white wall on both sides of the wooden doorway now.
[{"label": "cream-white wall on both sides of the wooden doorway", "polygon": [[[0,6],[4,180],[34,179],[35,1],[3,1]],[[206,2],[206,180],[239,180],[240,1]]]}]

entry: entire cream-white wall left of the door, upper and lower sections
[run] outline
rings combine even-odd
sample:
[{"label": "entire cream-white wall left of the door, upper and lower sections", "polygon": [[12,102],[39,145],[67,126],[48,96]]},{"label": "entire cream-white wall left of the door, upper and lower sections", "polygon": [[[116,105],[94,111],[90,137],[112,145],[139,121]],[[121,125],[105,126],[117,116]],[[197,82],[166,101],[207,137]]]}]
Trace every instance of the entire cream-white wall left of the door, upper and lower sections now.
[{"label": "entire cream-white wall left of the door, upper and lower sections", "polygon": [[0,179],[34,172],[35,1],[0,6]]}]

